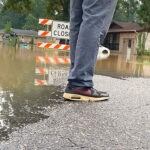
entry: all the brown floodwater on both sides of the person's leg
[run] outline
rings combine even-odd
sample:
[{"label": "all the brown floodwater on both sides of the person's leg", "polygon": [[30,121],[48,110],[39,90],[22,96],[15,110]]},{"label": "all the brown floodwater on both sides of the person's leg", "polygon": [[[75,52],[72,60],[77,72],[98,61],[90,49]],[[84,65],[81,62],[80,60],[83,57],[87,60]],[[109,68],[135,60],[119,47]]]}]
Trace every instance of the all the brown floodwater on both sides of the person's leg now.
[{"label": "all the brown floodwater on both sides of the person's leg", "polygon": [[[69,71],[69,53],[0,44],[0,140],[28,123],[48,118],[46,107],[61,105]],[[112,54],[98,60],[96,74],[150,77],[150,57]]]}]

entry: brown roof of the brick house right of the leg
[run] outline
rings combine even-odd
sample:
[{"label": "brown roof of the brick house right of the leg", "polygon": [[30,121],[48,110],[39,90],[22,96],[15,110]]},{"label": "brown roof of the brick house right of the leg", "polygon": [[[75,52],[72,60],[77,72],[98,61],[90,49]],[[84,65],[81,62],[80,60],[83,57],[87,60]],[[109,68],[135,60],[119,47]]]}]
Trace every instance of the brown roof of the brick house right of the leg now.
[{"label": "brown roof of the brick house right of the leg", "polygon": [[144,28],[136,23],[114,21],[111,23],[109,32],[142,32]]}]

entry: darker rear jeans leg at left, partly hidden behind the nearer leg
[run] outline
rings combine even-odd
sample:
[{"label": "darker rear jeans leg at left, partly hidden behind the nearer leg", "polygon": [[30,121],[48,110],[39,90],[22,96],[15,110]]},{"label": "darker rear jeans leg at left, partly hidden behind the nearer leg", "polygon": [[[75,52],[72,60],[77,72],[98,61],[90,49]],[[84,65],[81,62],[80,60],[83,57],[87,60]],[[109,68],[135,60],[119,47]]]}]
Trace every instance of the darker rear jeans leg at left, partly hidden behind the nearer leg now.
[{"label": "darker rear jeans leg at left, partly hidden behind the nearer leg", "polygon": [[82,3],[83,0],[71,0],[70,1],[70,58],[71,67],[70,71],[74,67],[76,44],[78,40],[80,25],[82,22]]}]

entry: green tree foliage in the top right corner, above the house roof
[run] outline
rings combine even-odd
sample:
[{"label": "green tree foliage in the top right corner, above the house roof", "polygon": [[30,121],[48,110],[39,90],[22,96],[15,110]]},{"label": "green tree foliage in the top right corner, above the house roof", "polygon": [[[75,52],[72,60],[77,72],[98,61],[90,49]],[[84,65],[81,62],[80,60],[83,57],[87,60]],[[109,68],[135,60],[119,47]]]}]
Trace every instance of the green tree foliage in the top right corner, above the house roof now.
[{"label": "green tree foliage in the top right corner, above the house roof", "polygon": [[140,20],[138,23],[150,31],[150,0],[140,0],[141,4],[137,10]]}]

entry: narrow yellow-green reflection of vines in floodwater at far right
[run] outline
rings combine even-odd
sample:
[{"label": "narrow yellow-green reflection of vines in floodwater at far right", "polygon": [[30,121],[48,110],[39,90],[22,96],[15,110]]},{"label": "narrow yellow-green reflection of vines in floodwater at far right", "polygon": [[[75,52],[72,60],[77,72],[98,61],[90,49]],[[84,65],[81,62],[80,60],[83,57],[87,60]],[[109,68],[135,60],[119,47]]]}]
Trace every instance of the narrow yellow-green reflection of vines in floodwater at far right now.
[{"label": "narrow yellow-green reflection of vines in floodwater at far right", "polygon": [[136,68],[135,68],[135,72],[134,72],[134,74],[135,74],[135,76],[136,77],[141,77],[141,76],[143,76],[143,72],[144,72],[144,70],[143,70],[143,62],[144,62],[144,57],[141,57],[141,56],[137,56],[137,62],[139,63],[139,64],[136,64]]}]

